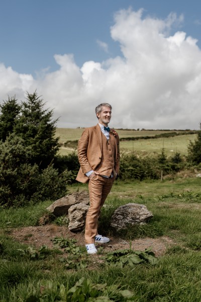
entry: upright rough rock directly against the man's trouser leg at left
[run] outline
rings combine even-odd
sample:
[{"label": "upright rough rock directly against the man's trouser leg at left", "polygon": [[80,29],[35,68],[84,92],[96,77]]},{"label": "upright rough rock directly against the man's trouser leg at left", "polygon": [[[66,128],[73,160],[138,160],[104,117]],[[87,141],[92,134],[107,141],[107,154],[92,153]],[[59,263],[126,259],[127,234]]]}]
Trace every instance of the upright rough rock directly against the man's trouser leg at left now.
[{"label": "upright rough rock directly against the man's trouser leg at left", "polygon": [[86,213],[88,211],[89,205],[80,202],[78,204],[72,205],[68,210],[68,229],[70,231],[80,231],[84,229]]}]

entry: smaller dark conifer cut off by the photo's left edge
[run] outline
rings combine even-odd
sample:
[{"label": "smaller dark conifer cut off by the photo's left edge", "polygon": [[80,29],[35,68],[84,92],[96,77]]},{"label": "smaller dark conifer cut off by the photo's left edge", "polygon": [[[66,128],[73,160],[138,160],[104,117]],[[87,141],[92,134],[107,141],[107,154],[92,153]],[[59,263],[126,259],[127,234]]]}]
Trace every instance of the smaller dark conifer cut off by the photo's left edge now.
[{"label": "smaller dark conifer cut off by the photo's left edge", "polygon": [[18,122],[18,116],[21,110],[21,106],[17,103],[15,97],[4,101],[0,104],[0,140],[6,140],[7,136],[13,133],[16,123]]}]

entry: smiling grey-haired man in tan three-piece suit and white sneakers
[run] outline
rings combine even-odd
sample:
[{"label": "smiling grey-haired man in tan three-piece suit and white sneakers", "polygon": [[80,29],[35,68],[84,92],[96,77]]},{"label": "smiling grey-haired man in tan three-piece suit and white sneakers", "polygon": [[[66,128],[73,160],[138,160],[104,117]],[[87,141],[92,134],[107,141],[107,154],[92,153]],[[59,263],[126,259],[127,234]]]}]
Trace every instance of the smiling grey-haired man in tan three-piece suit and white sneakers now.
[{"label": "smiling grey-haired man in tan three-piece suit and white sneakers", "polygon": [[85,242],[88,254],[96,254],[94,243],[106,243],[110,239],[98,235],[97,220],[100,209],[119,174],[119,135],[108,124],[112,106],[102,103],[95,108],[98,124],[86,128],[78,141],[80,169],[76,180],[88,182],[90,206],[86,215]]}]

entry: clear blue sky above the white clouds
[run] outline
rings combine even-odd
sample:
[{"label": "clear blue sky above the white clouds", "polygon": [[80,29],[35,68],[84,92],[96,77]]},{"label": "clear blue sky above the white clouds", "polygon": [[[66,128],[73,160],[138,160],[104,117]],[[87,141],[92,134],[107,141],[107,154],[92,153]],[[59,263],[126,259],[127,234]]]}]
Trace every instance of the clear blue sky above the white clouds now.
[{"label": "clear blue sky above the white clouds", "polygon": [[[201,46],[201,2],[186,0],[2,0],[0,62],[21,73],[58,68],[54,54],[74,54],[85,61],[103,61],[121,55],[110,36],[113,16],[120,9],[144,9],[144,15],[166,18],[183,14],[179,29],[198,39]],[[108,44],[109,53],[97,44]]]}]

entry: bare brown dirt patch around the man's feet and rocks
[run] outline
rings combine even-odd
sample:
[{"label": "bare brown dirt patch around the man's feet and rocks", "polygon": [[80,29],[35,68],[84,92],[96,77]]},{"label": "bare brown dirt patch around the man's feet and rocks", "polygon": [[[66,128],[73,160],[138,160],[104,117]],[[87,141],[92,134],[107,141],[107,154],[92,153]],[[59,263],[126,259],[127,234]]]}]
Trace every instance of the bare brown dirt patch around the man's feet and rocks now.
[{"label": "bare brown dirt patch around the man's feet and rocks", "polygon": [[[53,248],[51,239],[55,237],[76,239],[77,246],[85,245],[83,232],[73,233],[70,232],[66,226],[57,226],[55,224],[11,229],[10,235],[17,241],[36,248],[42,245]],[[129,241],[115,237],[110,237],[110,239],[111,241],[107,244],[97,244],[97,248],[102,246],[106,252],[130,248]],[[151,247],[156,257],[163,255],[166,249],[174,244],[175,243],[168,237],[136,239],[131,242],[133,250],[144,251]]]}]

